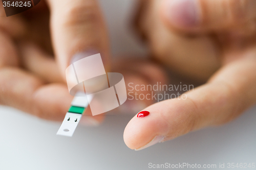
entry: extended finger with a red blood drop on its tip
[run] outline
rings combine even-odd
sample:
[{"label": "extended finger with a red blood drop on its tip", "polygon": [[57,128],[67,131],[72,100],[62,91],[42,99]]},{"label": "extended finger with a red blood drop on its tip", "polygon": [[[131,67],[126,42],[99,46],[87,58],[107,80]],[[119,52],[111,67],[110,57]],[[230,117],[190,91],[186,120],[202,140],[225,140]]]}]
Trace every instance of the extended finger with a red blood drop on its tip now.
[{"label": "extended finger with a red blood drop on its tip", "polygon": [[144,149],[237,117],[256,103],[255,56],[254,50],[254,53],[229,63],[207,84],[188,91],[180,99],[166,100],[145,108],[150,112],[148,116],[135,116],[126,126],[126,145],[131,149]]}]

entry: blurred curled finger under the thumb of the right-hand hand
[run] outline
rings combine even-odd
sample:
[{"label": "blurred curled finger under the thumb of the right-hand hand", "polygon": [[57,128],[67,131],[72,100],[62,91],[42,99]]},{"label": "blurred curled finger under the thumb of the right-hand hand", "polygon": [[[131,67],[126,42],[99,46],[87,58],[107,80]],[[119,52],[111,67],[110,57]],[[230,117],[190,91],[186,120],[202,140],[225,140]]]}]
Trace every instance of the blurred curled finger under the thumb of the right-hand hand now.
[{"label": "blurred curled finger under the thumb of the right-hand hand", "polygon": [[[162,1],[144,2],[138,17],[138,29],[147,38],[154,59],[178,76],[206,82],[220,68],[221,50],[214,37],[177,34],[159,19]],[[207,57],[206,57],[207,56]]]}]

